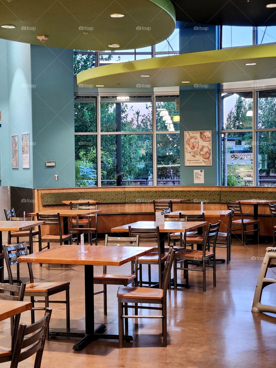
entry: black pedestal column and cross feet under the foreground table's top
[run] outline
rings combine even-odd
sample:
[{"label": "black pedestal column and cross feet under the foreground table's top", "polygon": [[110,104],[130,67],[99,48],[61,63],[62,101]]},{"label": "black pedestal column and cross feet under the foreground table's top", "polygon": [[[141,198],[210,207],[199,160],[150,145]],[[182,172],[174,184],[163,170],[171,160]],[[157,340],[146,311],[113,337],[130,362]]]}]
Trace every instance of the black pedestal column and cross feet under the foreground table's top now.
[{"label": "black pedestal column and cross feet under the foreground table's top", "polygon": [[[103,334],[106,325],[102,324],[94,330],[94,283],[93,283],[93,265],[84,266],[85,277],[85,331],[66,332],[50,330],[50,337],[72,337],[81,340],[74,344],[73,350],[82,350],[94,340],[118,340],[119,335]],[[132,336],[124,336],[124,340],[133,340]]]}]

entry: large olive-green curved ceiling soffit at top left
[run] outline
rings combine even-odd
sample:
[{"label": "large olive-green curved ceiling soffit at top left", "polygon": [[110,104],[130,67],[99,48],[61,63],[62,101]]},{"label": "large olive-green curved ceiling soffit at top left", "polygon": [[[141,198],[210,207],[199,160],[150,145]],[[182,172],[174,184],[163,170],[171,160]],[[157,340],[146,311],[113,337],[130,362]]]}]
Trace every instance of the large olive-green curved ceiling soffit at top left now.
[{"label": "large olive-green curved ceiling soffit at top left", "polygon": [[[173,33],[170,0],[0,1],[0,38],[78,50],[130,50],[155,45]],[[110,14],[124,14],[110,18]],[[84,34],[83,32],[87,33]],[[47,36],[44,44],[37,36]]]}]

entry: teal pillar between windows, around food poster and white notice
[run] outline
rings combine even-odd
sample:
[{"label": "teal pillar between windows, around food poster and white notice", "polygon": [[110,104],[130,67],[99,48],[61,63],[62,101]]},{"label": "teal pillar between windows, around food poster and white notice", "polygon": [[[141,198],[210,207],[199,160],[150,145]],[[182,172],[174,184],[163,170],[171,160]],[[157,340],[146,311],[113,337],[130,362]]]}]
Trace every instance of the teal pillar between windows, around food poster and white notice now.
[{"label": "teal pillar between windows, around food poster and white notice", "polygon": [[[218,48],[218,27],[205,25],[188,27],[187,24],[185,27],[180,29],[180,53],[215,50]],[[217,85],[180,87],[181,185],[218,185],[217,96]],[[187,130],[212,131],[212,166],[185,166],[184,131]],[[194,170],[201,169],[204,169],[204,184],[194,184]]]}]

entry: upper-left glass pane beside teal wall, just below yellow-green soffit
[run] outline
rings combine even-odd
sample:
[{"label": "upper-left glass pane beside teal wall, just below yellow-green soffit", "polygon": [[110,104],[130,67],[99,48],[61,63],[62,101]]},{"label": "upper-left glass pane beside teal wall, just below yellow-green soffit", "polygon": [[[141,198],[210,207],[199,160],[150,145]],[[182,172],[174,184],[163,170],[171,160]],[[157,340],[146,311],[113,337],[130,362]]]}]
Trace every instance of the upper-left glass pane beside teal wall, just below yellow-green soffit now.
[{"label": "upper-left glass pane beside teal wall, just below yellow-green soffit", "polygon": [[96,132],[96,99],[95,102],[76,102],[75,109],[75,132]]}]

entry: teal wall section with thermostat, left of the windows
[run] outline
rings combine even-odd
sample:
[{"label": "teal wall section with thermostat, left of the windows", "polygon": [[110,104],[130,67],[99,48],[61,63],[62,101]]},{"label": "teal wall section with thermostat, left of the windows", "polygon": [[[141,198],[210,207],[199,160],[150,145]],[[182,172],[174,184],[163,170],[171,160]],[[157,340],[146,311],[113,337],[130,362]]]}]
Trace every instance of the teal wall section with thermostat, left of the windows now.
[{"label": "teal wall section with thermostat, left of the windows", "polygon": [[31,45],[31,60],[33,187],[75,187],[73,52]]}]

